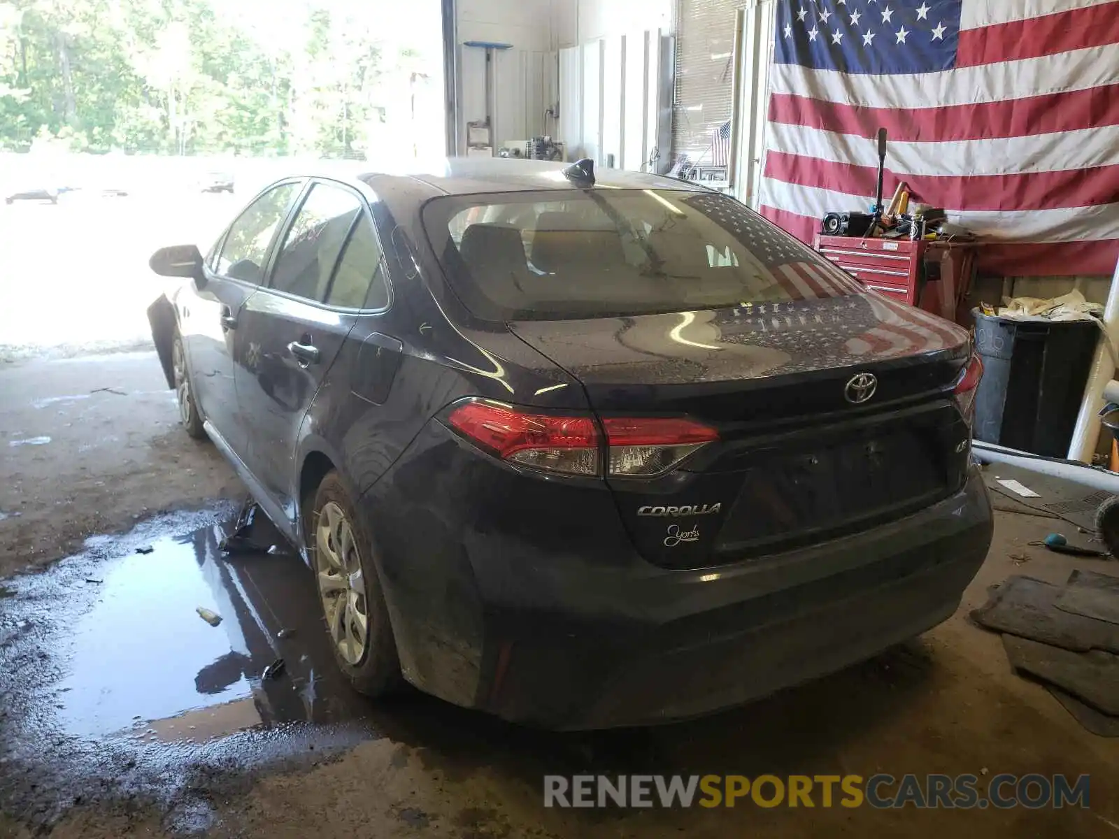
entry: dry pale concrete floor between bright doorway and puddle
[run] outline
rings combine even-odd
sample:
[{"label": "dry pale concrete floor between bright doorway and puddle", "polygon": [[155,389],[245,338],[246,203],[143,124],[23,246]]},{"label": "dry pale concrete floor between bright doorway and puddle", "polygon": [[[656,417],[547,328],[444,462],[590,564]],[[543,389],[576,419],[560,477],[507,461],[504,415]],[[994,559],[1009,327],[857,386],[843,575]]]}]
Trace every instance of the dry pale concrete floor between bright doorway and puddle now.
[{"label": "dry pale concrete floor between bright doorway and puddle", "polygon": [[182,434],[154,350],[0,364],[0,578],[244,492]]}]

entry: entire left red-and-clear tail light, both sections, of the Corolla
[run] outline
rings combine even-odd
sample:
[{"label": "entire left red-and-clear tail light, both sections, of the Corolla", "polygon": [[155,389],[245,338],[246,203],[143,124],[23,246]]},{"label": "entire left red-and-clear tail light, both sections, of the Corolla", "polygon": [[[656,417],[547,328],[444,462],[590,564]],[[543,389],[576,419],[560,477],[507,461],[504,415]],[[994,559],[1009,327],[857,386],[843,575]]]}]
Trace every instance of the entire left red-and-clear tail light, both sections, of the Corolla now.
[{"label": "entire left red-and-clear tail light, both sections, of the Corolla", "polygon": [[[535,414],[500,403],[471,400],[448,416],[451,427],[501,458],[534,469],[575,475],[602,474],[602,435],[587,415]],[[609,474],[662,474],[700,446],[718,440],[706,425],[683,418],[608,417]]]}]

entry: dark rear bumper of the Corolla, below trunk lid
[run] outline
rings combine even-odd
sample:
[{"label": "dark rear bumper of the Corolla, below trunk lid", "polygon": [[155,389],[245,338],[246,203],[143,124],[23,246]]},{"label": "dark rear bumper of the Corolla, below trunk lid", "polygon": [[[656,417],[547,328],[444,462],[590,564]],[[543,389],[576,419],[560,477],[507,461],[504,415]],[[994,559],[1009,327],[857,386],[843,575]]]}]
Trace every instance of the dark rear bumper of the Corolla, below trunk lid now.
[{"label": "dark rear bumper of the Corolla, below trunk lid", "polygon": [[[440,498],[445,481],[429,483],[426,516],[394,512],[394,480],[379,484],[384,503],[366,509],[380,519],[373,532],[386,534],[392,519],[387,532],[410,535],[386,534],[377,545],[406,678],[455,704],[549,728],[697,716],[869,658],[951,615],[991,536],[972,471],[960,492],[872,530],[669,571],[641,559],[620,527],[587,529],[579,510],[563,507],[568,515],[539,527],[555,539],[558,516],[568,539],[545,555],[539,544],[492,532],[469,500]],[[508,503],[532,508],[532,492]],[[462,507],[461,520],[446,512]],[[596,559],[573,553],[584,539]]]}]

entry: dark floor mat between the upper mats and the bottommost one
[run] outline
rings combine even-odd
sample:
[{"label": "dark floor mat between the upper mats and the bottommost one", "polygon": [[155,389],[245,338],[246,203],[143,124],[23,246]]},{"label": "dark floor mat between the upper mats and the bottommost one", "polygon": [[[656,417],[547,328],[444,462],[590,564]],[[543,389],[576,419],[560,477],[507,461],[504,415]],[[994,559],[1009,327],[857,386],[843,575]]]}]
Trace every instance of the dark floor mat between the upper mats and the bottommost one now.
[{"label": "dark floor mat between the upper mats and the bottommost one", "polygon": [[1071,652],[1026,638],[1003,635],[1015,670],[1055,685],[1108,716],[1119,716],[1119,656],[1103,650]]}]

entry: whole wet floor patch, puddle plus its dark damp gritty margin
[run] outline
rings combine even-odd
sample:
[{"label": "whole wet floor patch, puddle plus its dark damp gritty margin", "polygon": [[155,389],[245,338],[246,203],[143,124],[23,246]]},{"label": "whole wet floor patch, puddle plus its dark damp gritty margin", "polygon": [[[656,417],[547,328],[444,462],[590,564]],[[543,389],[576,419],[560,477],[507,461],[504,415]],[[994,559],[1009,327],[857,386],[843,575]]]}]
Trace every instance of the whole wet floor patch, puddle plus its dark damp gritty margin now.
[{"label": "whole wet floor patch, puddle plus its dark damp gritty margin", "polygon": [[159,517],[3,581],[0,803],[53,791],[62,808],[110,785],[170,799],[199,771],[382,736],[335,663],[310,569],[263,516],[253,539],[279,553],[224,554],[235,517]]}]

